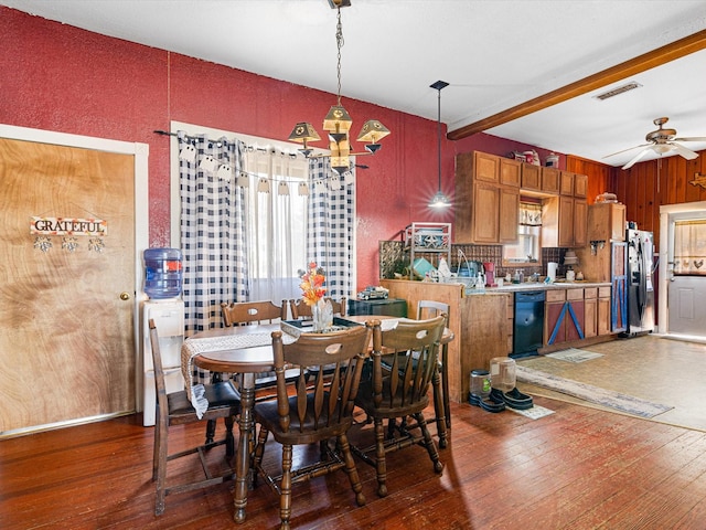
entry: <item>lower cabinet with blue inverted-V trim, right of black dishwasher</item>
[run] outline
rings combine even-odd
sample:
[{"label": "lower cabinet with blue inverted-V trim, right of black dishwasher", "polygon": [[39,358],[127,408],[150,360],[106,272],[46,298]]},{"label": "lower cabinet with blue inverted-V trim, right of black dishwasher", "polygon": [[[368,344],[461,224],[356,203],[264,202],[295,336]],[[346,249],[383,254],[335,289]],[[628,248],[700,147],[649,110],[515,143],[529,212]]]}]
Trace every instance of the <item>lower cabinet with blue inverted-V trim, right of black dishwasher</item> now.
[{"label": "lower cabinet with blue inverted-V trim, right of black dishwasher", "polygon": [[584,339],[584,289],[548,290],[544,311],[545,346]]}]

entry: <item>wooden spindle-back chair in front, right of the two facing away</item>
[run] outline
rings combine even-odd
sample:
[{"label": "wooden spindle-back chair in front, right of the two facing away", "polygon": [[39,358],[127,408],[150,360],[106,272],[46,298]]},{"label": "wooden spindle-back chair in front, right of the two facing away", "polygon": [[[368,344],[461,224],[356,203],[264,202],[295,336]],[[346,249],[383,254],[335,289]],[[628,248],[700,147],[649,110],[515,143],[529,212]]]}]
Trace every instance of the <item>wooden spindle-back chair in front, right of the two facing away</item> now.
[{"label": "wooden spindle-back chair in front, right of the two facing away", "polygon": [[[424,445],[434,470],[441,473],[443,469],[422,411],[429,404],[427,392],[437,371],[439,340],[445,324],[443,316],[428,320],[402,318],[393,329],[373,329],[373,373],[370,380],[361,383],[355,404],[373,418],[375,445],[352,449],[363,462],[375,466],[377,495],[381,497],[387,495],[387,453]],[[383,352],[392,362],[389,371],[383,370]],[[415,422],[407,422],[408,416]],[[388,430],[387,436],[384,420],[394,427]]]}]

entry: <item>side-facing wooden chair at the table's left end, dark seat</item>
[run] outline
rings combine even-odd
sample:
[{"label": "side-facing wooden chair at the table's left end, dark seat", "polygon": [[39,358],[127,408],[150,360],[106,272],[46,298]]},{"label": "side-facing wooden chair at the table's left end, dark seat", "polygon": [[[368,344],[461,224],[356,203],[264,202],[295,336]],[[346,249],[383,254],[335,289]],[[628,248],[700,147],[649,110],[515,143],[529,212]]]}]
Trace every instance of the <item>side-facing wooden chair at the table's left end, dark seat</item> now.
[{"label": "side-facing wooden chair at the table's left end, dark seat", "polygon": [[[225,473],[212,473],[212,469],[210,469],[210,466],[206,463],[206,452],[218,445],[225,445],[226,457],[232,457],[234,455],[233,424],[235,422],[235,416],[240,413],[240,396],[231,381],[204,385],[203,396],[208,400],[208,407],[203,413],[203,416],[199,418],[185,390],[169,394],[167,393],[162,354],[159,347],[159,333],[153,319],[149,320],[149,328],[150,343],[152,346],[152,360],[154,363],[154,386],[157,390],[152,480],[157,481],[154,515],[159,516],[164,511],[164,498],[168,495],[221,484],[233,478],[234,471],[229,466]],[[226,432],[223,439],[169,454],[168,438],[171,426],[196,422],[215,423],[218,417],[223,417],[225,422]],[[192,478],[191,481],[168,484],[168,463],[193,454],[199,454],[199,460],[205,478]]]}]

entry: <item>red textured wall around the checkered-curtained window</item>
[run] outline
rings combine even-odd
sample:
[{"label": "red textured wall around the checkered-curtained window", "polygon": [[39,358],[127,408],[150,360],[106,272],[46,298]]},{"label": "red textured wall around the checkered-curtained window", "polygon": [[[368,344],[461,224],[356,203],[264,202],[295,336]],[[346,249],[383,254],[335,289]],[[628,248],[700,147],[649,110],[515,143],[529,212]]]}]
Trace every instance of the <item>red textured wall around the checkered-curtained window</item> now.
[{"label": "red textured wall around the checkered-curtained window", "polygon": [[[149,144],[150,245],[169,246],[170,120],[286,139],[297,121],[318,124],[334,96],[0,7],[0,123]],[[345,88],[345,87],[344,87]],[[379,240],[413,221],[451,222],[427,208],[437,191],[434,120],[343,98],[353,128],[375,117],[392,135],[357,178],[359,287],[377,284]],[[442,148],[442,189],[453,194],[453,157],[505,155],[528,146],[475,135]],[[543,156],[545,152],[541,152]],[[362,161],[361,161],[362,162]]]}]

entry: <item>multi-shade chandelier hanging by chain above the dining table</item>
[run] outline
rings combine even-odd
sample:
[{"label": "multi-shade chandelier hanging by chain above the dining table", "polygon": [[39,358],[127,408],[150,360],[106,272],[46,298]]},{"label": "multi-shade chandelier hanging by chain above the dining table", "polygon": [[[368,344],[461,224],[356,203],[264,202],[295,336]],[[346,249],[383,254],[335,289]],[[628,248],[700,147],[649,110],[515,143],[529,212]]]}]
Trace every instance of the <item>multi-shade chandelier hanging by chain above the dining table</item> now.
[{"label": "multi-shade chandelier hanging by chain above the dining table", "polygon": [[364,152],[351,152],[351,140],[349,131],[353,120],[347,110],[341,105],[341,47],[343,46],[343,25],[341,24],[341,8],[351,6],[350,0],[329,0],[331,8],[338,11],[338,23],[335,26],[335,42],[338,46],[338,93],[336,104],[331,107],[329,114],[323,119],[323,130],[329,134],[330,155],[312,156],[312,149],[308,147],[308,142],[320,140],[319,134],[313,126],[306,121],[298,123],[289,140],[302,144],[299,151],[307,158],[319,158],[329,156],[331,158],[331,168],[340,176],[347,171],[351,167],[350,157],[357,155],[375,155],[382,147],[378,141],[389,135],[389,129],[381,124],[377,119],[368,119],[363,124],[361,132],[357,135],[357,141],[364,141]]}]

